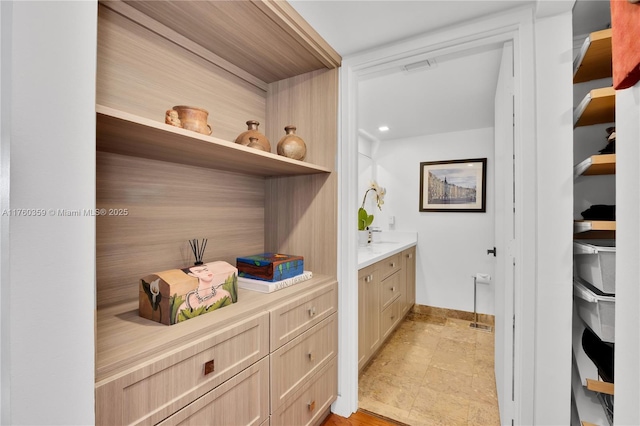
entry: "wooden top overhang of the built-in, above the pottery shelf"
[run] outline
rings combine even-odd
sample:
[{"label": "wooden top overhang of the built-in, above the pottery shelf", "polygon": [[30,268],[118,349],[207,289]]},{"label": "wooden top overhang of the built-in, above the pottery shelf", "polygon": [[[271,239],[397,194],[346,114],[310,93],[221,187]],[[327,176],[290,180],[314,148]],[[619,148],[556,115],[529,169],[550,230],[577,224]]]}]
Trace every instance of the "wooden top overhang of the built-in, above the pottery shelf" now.
[{"label": "wooden top overhang of the built-in, above the pottery shelf", "polygon": [[[237,67],[265,83],[322,68],[337,68],[342,61],[285,1],[101,0],[100,3],[176,44],[195,43],[222,58],[223,61],[215,61],[218,66],[229,68],[224,65],[227,62],[230,68]],[[196,16],[198,19],[194,19]],[[165,34],[167,31],[170,33]],[[228,70],[237,74],[234,69]]]}]

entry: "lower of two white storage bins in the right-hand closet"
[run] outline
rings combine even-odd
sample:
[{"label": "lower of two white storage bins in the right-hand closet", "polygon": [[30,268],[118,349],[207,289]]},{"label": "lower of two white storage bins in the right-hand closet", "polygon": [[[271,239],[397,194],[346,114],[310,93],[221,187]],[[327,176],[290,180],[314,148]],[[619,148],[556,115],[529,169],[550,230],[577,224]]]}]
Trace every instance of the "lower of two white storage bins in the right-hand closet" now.
[{"label": "lower of two white storage bins in the right-hand closet", "polygon": [[615,343],[616,298],[596,294],[577,279],[573,281],[573,298],[585,324],[603,342]]}]

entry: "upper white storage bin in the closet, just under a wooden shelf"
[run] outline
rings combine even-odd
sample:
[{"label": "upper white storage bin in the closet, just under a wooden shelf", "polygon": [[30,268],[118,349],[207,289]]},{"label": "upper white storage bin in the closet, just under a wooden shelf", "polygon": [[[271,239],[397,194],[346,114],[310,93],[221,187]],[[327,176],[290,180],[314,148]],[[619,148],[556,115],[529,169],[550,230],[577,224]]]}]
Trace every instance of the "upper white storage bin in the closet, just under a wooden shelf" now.
[{"label": "upper white storage bin in the closet, just under a wooden shelf", "polygon": [[603,293],[616,292],[616,240],[573,242],[575,274]]}]

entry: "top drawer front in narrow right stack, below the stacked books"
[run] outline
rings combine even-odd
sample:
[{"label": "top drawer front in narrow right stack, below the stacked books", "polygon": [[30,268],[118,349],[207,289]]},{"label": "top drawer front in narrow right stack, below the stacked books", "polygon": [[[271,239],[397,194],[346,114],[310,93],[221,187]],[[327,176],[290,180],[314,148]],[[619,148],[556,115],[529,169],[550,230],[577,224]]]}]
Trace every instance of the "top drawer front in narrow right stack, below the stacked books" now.
[{"label": "top drawer front in narrow right stack, below the stacked books", "polygon": [[271,352],[338,309],[338,283],[323,285],[271,310]]}]

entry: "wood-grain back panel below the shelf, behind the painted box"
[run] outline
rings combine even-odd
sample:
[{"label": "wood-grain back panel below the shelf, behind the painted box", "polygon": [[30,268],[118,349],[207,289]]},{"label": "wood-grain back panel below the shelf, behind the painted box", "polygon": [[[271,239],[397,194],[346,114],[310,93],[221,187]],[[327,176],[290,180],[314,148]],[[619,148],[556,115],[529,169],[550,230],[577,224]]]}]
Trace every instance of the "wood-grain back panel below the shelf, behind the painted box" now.
[{"label": "wood-grain back panel below the shelf, behind the painted box", "polygon": [[96,220],[99,308],[137,300],[149,273],[193,264],[189,239],[208,239],[205,262],[263,251],[263,178],[104,152],[96,161],[96,206],[128,209]]}]

